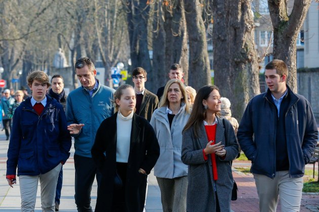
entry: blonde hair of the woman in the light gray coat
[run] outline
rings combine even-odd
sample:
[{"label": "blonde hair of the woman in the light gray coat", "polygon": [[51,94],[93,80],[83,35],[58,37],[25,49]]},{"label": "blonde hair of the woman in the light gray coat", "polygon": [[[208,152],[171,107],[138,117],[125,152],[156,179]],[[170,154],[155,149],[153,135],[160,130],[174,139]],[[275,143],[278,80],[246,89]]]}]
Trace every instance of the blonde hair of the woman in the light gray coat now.
[{"label": "blonde hair of the woman in the light gray coat", "polygon": [[183,96],[183,98],[181,99],[181,101],[183,101],[184,103],[185,103],[185,111],[187,112],[187,113],[190,113],[190,110],[189,110],[189,103],[188,103],[188,101],[187,101],[187,93],[186,93],[186,89],[185,89],[185,86],[184,86],[184,84],[182,83],[182,81],[180,81],[180,80],[178,80],[178,79],[171,79],[171,80],[169,80],[167,83],[166,83],[166,85],[165,85],[165,88],[164,88],[164,93],[163,93],[163,96],[162,96],[162,98],[161,98],[161,102],[160,102],[160,108],[162,108],[162,107],[166,107],[166,106],[168,106],[169,104],[170,104],[170,102],[169,102],[169,100],[168,100],[168,98],[167,98],[167,93],[168,93],[168,89],[170,88],[170,86],[172,85],[172,84],[174,84],[174,83],[176,83],[176,84],[178,84],[179,85],[179,89],[181,90],[181,92],[182,92],[182,96]]}]

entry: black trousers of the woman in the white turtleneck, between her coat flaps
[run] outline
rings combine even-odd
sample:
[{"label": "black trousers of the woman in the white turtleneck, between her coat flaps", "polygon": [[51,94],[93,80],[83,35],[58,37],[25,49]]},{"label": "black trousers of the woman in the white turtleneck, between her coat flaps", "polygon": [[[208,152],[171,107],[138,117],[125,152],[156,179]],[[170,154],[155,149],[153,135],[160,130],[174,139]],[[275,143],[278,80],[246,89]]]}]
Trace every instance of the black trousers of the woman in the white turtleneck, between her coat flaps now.
[{"label": "black trousers of the woman in the white turtleneck, between her coat flaps", "polygon": [[126,173],[127,173],[127,163],[116,163],[116,171],[119,177],[122,179],[123,187],[121,189],[115,190],[113,192],[112,199],[112,212],[125,212],[125,184],[126,184]]}]

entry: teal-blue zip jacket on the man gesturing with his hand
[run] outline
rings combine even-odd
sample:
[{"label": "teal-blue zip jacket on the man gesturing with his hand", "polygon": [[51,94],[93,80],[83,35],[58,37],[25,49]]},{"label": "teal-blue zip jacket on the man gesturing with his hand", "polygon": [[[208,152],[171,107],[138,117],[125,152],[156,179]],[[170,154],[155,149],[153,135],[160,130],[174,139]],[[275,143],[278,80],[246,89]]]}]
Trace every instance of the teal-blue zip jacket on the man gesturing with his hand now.
[{"label": "teal-blue zip jacket on the man gesturing with his hand", "polygon": [[74,149],[77,155],[91,156],[97,129],[102,121],[113,114],[114,89],[99,83],[92,97],[83,87],[71,91],[67,97],[66,117],[68,125],[84,124],[82,130],[74,136]]}]

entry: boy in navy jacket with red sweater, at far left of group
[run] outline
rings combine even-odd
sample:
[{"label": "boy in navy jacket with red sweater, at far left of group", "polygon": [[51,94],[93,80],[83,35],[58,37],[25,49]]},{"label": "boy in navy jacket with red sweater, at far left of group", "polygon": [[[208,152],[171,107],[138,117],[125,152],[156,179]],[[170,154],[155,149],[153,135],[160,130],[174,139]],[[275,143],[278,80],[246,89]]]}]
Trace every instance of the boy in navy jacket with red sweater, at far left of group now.
[{"label": "boy in navy jacket with red sweater, at far left of group", "polygon": [[21,211],[33,211],[38,181],[43,211],[54,211],[54,196],[62,165],[69,157],[71,137],[63,107],[46,95],[49,77],[34,71],[27,77],[32,97],[23,101],[13,116],[7,161],[7,180],[21,193]]}]

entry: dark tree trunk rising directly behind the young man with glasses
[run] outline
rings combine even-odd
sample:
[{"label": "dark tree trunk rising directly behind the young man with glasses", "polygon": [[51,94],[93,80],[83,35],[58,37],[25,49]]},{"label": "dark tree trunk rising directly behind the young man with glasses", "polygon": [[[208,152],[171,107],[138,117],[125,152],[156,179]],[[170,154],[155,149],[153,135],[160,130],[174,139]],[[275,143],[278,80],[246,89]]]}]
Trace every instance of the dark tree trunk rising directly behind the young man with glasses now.
[{"label": "dark tree trunk rising directly behind the young man with glasses", "polygon": [[130,52],[132,69],[143,67],[147,72],[151,72],[151,63],[147,42],[147,20],[149,18],[149,4],[147,0],[128,0],[127,13]]}]

